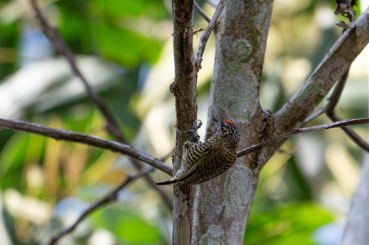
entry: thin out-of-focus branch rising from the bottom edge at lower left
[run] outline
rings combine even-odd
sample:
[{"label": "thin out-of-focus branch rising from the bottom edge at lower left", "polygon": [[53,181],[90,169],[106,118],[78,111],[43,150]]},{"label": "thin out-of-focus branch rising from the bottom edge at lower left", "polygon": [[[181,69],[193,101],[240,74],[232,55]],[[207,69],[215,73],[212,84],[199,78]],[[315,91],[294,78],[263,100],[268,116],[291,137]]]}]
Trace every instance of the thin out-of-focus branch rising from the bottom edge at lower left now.
[{"label": "thin out-of-focus branch rising from the bottom edge at lower left", "polygon": [[127,186],[127,184],[129,184],[130,182],[132,182],[134,180],[137,180],[142,175],[148,174],[152,170],[154,170],[154,168],[152,168],[151,166],[146,166],[144,168],[141,168],[135,175],[132,175],[132,176],[131,175],[128,175],[127,176],[127,179],[125,179],[124,182],[122,182],[117,188],[115,188],[114,191],[112,191],[106,197],[104,197],[103,199],[97,201],[96,203],[94,203],[93,205],[91,205],[89,208],[87,208],[87,210],[85,210],[85,212],[83,212],[83,214],[78,218],[78,220],[76,220],[76,222],[73,223],[73,225],[71,225],[69,228],[66,228],[65,230],[61,231],[58,235],[55,235],[54,237],[52,237],[51,240],[46,245],[55,244],[55,242],[57,242],[64,235],[66,235],[69,232],[73,231],[77,227],[77,225],[84,218],[86,218],[87,215],[89,215],[90,213],[92,213],[97,208],[99,208],[99,207],[101,207],[101,206],[103,206],[103,205],[105,205],[107,203],[110,203],[111,201],[116,200],[117,197],[118,197],[118,191],[120,191],[125,186]]}]

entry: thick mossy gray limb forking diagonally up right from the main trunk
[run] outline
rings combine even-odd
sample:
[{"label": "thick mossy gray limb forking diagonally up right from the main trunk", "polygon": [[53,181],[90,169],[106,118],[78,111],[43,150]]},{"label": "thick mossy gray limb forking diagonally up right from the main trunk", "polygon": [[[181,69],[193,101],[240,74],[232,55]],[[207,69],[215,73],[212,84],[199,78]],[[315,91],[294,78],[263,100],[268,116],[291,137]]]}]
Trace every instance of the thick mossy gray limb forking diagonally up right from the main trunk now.
[{"label": "thick mossy gray limb forking diagonally up right from the main trunk", "polygon": [[369,42],[369,10],[363,12],[355,28],[345,31],[307,79],[304,86],[275,115],[277,132],[299,125],[327,95],[334,83]]}]

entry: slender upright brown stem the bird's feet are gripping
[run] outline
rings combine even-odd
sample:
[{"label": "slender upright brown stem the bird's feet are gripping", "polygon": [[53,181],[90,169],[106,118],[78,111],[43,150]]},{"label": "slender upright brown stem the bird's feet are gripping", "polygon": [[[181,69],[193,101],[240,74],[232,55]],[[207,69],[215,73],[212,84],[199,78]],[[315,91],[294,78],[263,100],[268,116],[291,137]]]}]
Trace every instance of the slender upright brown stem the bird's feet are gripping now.
[{"label": "slender upright brown stem the bird's feet are gripping", "polygon": [[[175,96],[177,129],[185,131],[196,126],[197,104],[193,58],[193,0],[173,1],[173,49],[175,80],[170,91]],[[182,146],[189,134],[176,135],[176,150],[173,159],[173,175],[179,169]],[[192,187],[173,185],[173,244],[191,244],[192,237]]]}]

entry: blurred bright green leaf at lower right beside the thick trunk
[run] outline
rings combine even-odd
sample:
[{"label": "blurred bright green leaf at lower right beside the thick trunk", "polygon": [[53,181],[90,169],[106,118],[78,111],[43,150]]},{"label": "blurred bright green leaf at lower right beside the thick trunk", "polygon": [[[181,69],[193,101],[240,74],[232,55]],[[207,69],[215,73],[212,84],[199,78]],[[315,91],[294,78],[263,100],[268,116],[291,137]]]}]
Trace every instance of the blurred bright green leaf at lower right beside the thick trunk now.
[{"label": "blurred bright green leaf at lower right beside the thick trunk", "polygon": [[311,236],[313,231],[332,219],[331,214],[310,202],[275,208],[271,212],[258,212],[257,207],[254,207],[246,228],[244,244],[314,245]]}]

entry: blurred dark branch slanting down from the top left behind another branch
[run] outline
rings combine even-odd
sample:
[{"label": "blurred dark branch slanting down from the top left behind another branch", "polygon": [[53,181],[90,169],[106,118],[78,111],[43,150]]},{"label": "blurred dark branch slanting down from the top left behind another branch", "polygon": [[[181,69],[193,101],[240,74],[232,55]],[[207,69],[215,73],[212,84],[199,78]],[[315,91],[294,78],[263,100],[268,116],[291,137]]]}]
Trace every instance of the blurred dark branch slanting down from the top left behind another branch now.
[{"label": "blurred dark branch slanting down from the top left behind another branch", "polygon": [[[99,96],[99,94],[96,93],[93,90],[93,88],[87,82],[85,76],[83,76],[82,73],[80,72],[80,70],[77,68],[77,65],[76,65],[76,62],[75,62],[75,59],[74,59],[74,54],[73,54],[72,50],[70,49],[70,47],[68,46],[68,44],[63,39],[60,32],[56,28],[51,27],[51,25],[49,24],[47,18],[44,16],[44,14],[42,14],[41,10],[37,6],[35,0],[30,0],[30,3],[32,5],[33,10],[36,13],[36,16],[37,16],[39,22],[40,22],[42,31],[45,33],[46,36],[49,37],[49,39],[50,39],[51,43],[54,45],[55,49],[58,50],[61,54],[63,54],[65,56],[65,58],[68,60],[70,68],[72,69],[73,73],[75,73],[75,75],[81,79],[81,81],[83,82],[83,84],[86,87],[87,94],[91,97],[91,99],[94,101],[94,103],[100,109],[101,113],[104,115],[104,117],[106,119],[106,126],[105,126],[106,130],[111,135],[113,135],[113,137],[117,141],[119,141],[123,144],[128,144],[128,142],[124,139],[123,135],[121,134],[121,131],[119,129],[119,125],[118,125],[117,121],[115,121],[114,116],[109,112],[109,110],[107,109],[106,105],[104,104],[104,102],[101,99],[101,97]],[[137,159],[134,159],[134,158],[130,157],[130,160],[131,160],[133,166],[137,170],[143,168],[142,163],[137,161]],[[154,188],[160,194],[160,196],[162,196],[162,198],[164,200],[164,203],[170,209],[173,209],[172,201],[169,200],[168,195],[166,195],[166,193],[164,193],[161,188],[158,188],[158,186],[155,185],[155,181],[153,181],[148,175],[145,175],[145,178],[148,180],[150,186],[152,188]]]}]

